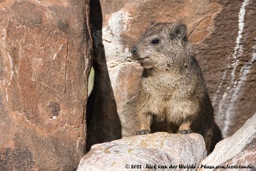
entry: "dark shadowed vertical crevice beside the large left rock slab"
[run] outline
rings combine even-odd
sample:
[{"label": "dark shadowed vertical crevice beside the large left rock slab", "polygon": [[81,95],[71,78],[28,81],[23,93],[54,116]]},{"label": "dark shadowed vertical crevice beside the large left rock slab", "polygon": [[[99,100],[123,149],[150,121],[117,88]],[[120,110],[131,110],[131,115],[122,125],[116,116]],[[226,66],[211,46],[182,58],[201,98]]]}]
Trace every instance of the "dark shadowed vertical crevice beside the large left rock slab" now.
[{"label": "dark shadowed vertical crevice beside the large left rock slab", "polygon": [[102,11],[99,0],[90,1],[90,23],[95,77],[86,111],[86,152],[90,151],[93,144],[122,138],[122,126],[116,110],[102,43]]}]

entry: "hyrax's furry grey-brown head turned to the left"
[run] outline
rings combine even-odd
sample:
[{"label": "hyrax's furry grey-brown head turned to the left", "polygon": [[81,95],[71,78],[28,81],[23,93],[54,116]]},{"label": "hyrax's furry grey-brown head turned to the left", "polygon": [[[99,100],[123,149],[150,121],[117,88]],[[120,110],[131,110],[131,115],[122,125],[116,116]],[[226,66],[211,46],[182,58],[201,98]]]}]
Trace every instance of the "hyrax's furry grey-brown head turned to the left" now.
[{"label": "hyrax's furry grey-brown head turned to the left", "polygon": [[151,24],[137,45],[131,48],[132,56],[145,68],[168,70],[186,63],[189,43],[187,27],[178,23]]}]

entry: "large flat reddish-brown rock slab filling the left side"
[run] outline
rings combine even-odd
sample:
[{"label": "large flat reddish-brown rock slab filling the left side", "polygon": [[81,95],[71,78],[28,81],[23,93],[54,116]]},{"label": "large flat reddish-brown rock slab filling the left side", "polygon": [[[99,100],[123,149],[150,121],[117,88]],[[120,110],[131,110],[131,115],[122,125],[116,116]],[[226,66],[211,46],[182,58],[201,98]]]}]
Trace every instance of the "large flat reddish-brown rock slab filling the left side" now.
[{"label": "large flat reddish-brown rock slab filling the left side", "polygon": [[88,1],[0,1],[0,170],[74,170],[84,155]]}]

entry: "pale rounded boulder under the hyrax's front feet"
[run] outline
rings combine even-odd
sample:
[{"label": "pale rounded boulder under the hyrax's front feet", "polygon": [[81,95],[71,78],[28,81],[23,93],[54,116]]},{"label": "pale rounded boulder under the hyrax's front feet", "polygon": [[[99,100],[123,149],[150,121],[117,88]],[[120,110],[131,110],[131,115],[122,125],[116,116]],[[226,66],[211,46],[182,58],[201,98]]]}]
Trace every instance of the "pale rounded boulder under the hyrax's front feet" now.
[{"label": "pale rounded boulder under the hyrax's front feet", "polygon": [[158,132],[93,145],[80,161],[77,171],[136,170],[132,167],[149,170],[148,167],[154,168],[154,165],[157,168],[177,166],[174,170],[180,170],[182,164],[197,166],[206,153],[204,138],[197,133]]}]

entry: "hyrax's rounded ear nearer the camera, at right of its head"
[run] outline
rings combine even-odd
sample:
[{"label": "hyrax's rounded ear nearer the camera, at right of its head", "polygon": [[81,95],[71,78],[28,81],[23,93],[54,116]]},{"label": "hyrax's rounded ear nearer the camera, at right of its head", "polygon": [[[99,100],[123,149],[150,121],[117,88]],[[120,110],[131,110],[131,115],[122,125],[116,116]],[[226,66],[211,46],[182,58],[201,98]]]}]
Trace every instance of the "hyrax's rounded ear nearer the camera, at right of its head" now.
[{"label": "hyrax's rounded ear nearer the camera, at right of its head", "polygon": [[187,33],[187,26],[185,24],[177,24],[173,27],[170,38],[171,40],[177,38],[178,40],[184,40],[186,39],[186,33]]}]

